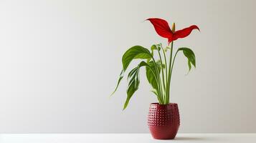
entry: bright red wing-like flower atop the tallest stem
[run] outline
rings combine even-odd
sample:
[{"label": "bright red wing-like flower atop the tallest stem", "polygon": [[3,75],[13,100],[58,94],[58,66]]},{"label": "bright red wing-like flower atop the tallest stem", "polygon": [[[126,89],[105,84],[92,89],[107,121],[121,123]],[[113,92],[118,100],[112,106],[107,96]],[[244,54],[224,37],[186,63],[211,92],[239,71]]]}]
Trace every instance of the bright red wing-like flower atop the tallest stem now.
[{"label": "bright red wing-like flower atop the tallest stem", "polygon": [[151,24],[153,24],[153,27],[156,29],[156,33],[159,36],[162,36],[163,38],[168,39],[168,44],[170,44],[171,41],[175,41],[176,39],[189,36],[191,31],[194,29],[199,30],[198,26],[192,25],[192,26],[189,26],[182,30],[171,31],[168,22],[163,19],[151,18],[151,19],[146,19],[146,20],[151,21]]}]

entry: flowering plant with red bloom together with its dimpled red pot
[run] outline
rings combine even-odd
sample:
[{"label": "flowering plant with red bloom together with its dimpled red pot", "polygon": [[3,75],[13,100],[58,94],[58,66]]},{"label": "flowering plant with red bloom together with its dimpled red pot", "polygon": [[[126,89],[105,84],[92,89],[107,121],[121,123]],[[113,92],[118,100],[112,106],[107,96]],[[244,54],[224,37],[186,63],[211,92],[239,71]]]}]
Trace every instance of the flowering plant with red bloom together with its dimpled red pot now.
[{"label": "flowering plant with red bloom together with its dimpled red pot", "polygon": [[[178,104],[169,101],[169,97],[171,74],[174,68],[176,55],[179,51],[183,51],[184,56],[186,56],[189,71],[192,65],[196,67],[196,57],[191,49],[180,47],[179,49],[176,49],[174,54],[174,41],[189,36],[192,30],[199,30],[199,28],[196,25],[192,25],[176,31],[175,23],[172,24],[172,27],[170,28],[168,22],[163,19],[151,18],[147,20],[153,24],[153,27],[159,36],[168,39],[168,46],[163,48],[162,44],[153,44],[151,49],[146,49],[143,46],[137,45],[132,46],[125,51],[122,58],[123,69],[119,75],[115,91],[118,89],[118,85],[123,79],[124,73],[128,69],[131,61],[133,61],[133,59],[140,59],[141,62],[138,66],[131,69],[128,73],[127,98],[123,105],[123,109],[128,106],[131,97],[138,89],[140,83],[139,71],[145,66],[146,77],[152,87],[151,92],[153,92],[158,99],[158,103],[151,103],[150,105],[148,127],[155,139],[174,139],[179,129],[179,109]],[[155,59],[155,53],[158,55],[158,60]],[[167,61],[167,58],[169,58],[169,62]]]}]

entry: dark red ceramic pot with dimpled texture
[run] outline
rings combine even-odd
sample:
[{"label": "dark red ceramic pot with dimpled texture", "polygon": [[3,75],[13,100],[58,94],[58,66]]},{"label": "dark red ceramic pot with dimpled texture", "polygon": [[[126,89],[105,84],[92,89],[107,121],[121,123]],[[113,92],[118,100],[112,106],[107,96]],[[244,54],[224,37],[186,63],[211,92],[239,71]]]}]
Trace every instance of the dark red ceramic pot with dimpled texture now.
[{"label": "dark red ceramic pot with dimpled texture", "polygon": [[148,127],[155,139],[174,139],[179,130],[178,104],[151,103]]}]

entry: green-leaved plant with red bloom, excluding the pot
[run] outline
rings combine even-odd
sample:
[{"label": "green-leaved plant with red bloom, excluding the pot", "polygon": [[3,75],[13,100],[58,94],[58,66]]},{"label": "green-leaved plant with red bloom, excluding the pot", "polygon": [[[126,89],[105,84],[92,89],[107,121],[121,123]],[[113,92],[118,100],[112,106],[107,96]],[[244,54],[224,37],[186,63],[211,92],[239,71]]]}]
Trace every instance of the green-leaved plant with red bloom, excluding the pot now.
[{"label": "green-leaved plant with red bloom, excluding the pot", "polygon": [[[151,92],[156,95],[159,104],[169,104],[170,102],[171,74],[174,69],[176,55],[179,51],[182,51],[186,57],[189,71],[192,65],[196,67],[196,56],[188,47],[180,47],[176,49],[174,54],[174,41],[189,36],[194,29],[199,30],[198,26],[192,25],[176,31],[175,23],[173,23],[170,28],[168,22],[163,19],[151,18],[146,20],[153,24],[153,27],[159,36],[168,39],[168,45],[163,48],[162,44],[153,44],[151,49],[136,45],[125,51],[122,58],[123,69],[119,75],[115,91],[118,89],[118,85],[123,79],[131,61],[140,59],[141,62],[128,73],[127,98],[123,105],[123,109],[128,106],[131,97],[138,90],[140,84],[139,72],[143,66],[146,67],[146,77],[149,84],[151,84]],[[158,56],[158,59],[156,59],[155,53]],[[167,61],[168,58],[169,61]]]}]

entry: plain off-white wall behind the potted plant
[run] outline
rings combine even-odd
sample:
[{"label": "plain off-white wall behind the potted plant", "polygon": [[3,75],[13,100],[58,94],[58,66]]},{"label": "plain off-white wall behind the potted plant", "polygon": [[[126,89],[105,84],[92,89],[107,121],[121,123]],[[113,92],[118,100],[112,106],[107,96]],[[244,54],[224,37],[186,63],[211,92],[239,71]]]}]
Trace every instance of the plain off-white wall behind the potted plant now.
[{"label": "plain off-white wall behind the potted plant", "polygon": [[174,68],[179,131],[256,132],[255,4],[1,0],[0,132],[148,132],[148,105],[156,98],[143,72],[124,112],[125,80],[108,96],[126,49],[166,45],[143,21],[149,17],[201,29],[174,44],[191,47],[197,60],[187,76],[182,54]]}]

